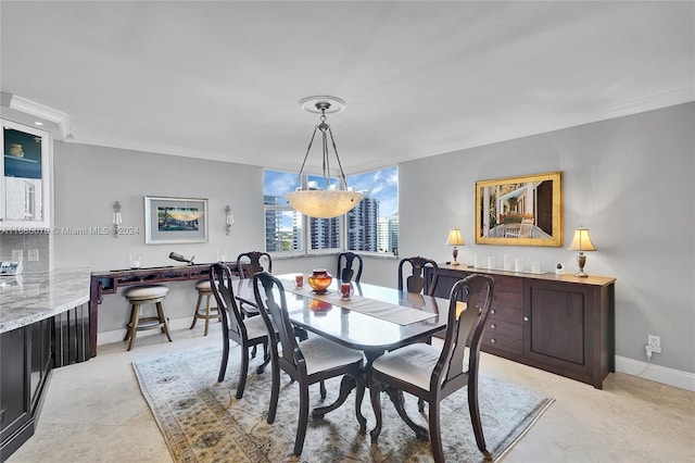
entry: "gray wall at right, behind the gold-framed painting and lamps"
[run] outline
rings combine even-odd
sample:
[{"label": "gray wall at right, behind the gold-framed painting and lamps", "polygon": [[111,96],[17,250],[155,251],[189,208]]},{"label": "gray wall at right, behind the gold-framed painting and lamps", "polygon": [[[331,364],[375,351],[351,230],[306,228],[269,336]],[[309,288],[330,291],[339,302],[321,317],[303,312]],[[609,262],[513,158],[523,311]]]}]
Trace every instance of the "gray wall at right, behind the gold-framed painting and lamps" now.
[{"label": "gray wall at right, behind the gold-framed painting and lamps", "polygon": [[[664,353],[652,362],[693,373],[694,113],[683,104],[401,164],[401,254],[451,260],[444,241],[458,226],[459,262],[513,254],[574,272],[577,253],[567,248],[584,225],[597,248],[585,271],[617,278],[617,354],[646,361],[654,334]],[[475,243],[476,180],[552,171],[564,173],[564,248]]]}]

